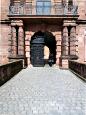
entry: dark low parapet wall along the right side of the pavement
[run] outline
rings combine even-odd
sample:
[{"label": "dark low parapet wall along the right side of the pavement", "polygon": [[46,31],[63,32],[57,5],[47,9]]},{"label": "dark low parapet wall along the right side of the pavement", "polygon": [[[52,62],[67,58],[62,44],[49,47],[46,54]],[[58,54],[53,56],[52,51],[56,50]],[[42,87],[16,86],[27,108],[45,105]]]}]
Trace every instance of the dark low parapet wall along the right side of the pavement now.
[{"label": "dark low parapet wall along the right side of the pavement", "polygon": [[80,78],[86,81],[86,63],[79,61],[69,61],[69,68]]}]

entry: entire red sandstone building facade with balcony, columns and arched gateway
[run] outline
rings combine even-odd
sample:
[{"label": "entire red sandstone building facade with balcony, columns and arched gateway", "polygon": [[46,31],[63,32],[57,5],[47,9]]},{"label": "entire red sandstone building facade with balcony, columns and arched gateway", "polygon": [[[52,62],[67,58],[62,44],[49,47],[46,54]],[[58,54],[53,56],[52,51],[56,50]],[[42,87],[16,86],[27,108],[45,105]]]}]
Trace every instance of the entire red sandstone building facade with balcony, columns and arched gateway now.
[{"label": "entire red sandstone building facade with balcony, columns and arched gateway", "polygon": [[86,0],[1,0],[0,63],[86,61]]}]

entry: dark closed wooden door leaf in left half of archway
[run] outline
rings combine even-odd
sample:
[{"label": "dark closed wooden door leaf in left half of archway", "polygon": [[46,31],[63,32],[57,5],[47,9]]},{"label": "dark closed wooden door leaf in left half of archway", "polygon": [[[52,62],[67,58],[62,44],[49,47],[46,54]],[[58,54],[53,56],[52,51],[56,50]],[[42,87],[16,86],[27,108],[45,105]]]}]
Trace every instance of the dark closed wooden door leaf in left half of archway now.
[{"label": "dark closed wooden door leaf in left half of archway", "polygon": [[44,38],[36,38],[31,43],[31,63],[35,67],[44,66]]}]

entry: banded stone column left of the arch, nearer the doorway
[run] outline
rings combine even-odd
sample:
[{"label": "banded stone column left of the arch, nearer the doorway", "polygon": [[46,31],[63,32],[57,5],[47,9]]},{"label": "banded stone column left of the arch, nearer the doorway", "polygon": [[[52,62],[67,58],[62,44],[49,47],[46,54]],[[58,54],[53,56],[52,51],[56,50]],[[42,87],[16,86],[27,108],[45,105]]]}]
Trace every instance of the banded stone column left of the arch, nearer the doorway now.
[{"label": "banded stone column left of the arch, nearer the doorway", "polygon": [[18,56],[24,57],[24,30],[23,26],[18,29]]}]

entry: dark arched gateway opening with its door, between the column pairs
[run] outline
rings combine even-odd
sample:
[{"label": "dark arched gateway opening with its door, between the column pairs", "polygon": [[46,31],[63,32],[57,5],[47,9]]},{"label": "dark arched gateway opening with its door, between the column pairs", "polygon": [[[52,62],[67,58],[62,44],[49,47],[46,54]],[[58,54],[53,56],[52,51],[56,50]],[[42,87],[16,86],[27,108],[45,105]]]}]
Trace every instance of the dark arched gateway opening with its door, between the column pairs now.
[{"label": "dark arched gateway opening with its door, between the column pairs", "polygon": [[[49,56],[45,59],[44,48],[49,49]],[[56,41],[51,32],[36,32],[30,42],[30,59],[33,66],[44,66],[52,60],[52,64],[56,63]]]}]

